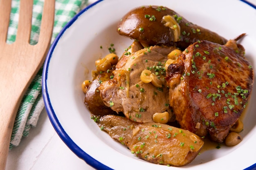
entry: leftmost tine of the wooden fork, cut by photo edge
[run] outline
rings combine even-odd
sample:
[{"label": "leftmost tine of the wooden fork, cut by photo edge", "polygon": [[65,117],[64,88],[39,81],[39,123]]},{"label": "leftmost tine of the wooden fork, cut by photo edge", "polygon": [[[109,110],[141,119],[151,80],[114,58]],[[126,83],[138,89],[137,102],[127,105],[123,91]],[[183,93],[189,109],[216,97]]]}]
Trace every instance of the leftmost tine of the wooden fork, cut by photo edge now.
[{"label": "leftmost tine of the wooden fork, cut by photo edge", "polygon": [[11,0],[0,0],[0,42],[6,42],[11,13]]}]

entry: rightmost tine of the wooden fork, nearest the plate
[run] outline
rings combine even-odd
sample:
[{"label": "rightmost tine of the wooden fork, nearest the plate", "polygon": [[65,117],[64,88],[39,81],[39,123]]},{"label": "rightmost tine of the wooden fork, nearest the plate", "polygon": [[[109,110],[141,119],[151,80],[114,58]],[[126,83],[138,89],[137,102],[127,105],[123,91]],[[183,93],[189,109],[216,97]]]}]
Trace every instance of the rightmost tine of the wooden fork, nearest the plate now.
[{"label": "rightmost tine of the wooden fork, nearest the plate", "polygon": [[[52,29],[54,25],[54,14],[55,14],[55,0],[45,0],[44,7],[43,7],[43,16],[41,20],[40,34],[38,38],[38,45],[48,44],[49,41],[51,40]],[[52,29],[49,29],[49,28],[52,28]]]}]

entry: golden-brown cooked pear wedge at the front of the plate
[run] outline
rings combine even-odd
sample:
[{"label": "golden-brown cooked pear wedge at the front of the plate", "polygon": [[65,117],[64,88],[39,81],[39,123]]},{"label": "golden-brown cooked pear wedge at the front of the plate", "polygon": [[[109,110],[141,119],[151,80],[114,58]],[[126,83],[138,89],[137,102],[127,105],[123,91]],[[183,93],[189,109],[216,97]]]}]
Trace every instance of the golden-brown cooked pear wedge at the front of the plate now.
[{"label": "golden-brown cooked pear wedge at the front of the plate", "polygon": [[187,165],[204,144],[192,132],[166,124],[140,124],[126,117],[106,115],[99,119],[98,125],[137,157],[162,165]]}]

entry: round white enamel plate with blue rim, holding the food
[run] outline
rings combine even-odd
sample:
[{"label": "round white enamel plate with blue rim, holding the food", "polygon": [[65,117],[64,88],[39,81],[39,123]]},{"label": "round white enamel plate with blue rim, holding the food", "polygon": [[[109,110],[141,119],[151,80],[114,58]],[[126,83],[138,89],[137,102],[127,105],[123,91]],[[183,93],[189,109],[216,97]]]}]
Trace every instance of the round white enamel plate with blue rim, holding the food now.
[{"label": "round white enamel plate with blue rim, holding the food", "polygon": [[[117,22],[128,11],[143,5],[173,9],[187,20],[239,41],[246,57],[256,66],[256,7],[240,0],[100,0],[74,17],[58,35],[47,55],[43,71],[43,97],[52,125],[65,144],[90,166],[99,170],[180,170],[256,168],[256,89],[243,116],[243,141],[234,147],[204,150],[189,165],[168,167],[143,161],[90,118],[81,83],[91,79],[94,62],[109,53],[117,55],[132,43],[116,32]],[[102,46],[102,49],[100,48]]]}]

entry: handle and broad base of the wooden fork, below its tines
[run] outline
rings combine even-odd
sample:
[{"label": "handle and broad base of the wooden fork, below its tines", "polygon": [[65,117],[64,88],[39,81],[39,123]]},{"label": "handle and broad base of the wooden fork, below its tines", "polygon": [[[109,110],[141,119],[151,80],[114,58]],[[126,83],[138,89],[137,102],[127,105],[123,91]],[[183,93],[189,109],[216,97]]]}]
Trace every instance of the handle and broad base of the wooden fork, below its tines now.
[{"label": "handle and broad base of the wooden fork, below its tines", "polygon": [[[13,43],[5,46],[4,49],[0,47],[2,52],[0,62],[0,170],[4,170],[6,166],[11,133],[20,102],[43,62],[38,61],[37,67],[33,67],[33,63],[28,62],[26,62],[27,66],[21,64],[17,56],[23,61],[26,54],[34,54],[37,49],[32,49],[34,47],[28,44],[23,45],[23,49],[15,50],[19,46],[21,44]],[[17,51],[18,54],[16,54]],[[34,55],[37,56],[37,54]]]}]

